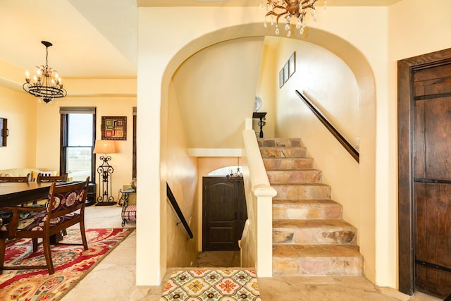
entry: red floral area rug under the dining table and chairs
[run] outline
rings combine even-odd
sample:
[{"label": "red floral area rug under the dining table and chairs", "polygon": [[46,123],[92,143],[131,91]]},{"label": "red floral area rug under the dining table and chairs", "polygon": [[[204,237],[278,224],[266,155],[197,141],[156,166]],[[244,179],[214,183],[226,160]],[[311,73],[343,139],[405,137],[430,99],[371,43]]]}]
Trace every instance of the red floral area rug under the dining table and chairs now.
[{"label": "red floral area rug under the dining table and chairs", "polygon": [[[3,271],[0,275],[0,300],[61,300],[87,273],[106,257],[134,228],[89,229],[87,251],[82,245],[51,247],[55,274],[47,269]],[[80,230],[68,229],[64,242],[81,242]],[[6,245],[5,266],[45,263],[42,245],[32,252],[30,239]]]}]

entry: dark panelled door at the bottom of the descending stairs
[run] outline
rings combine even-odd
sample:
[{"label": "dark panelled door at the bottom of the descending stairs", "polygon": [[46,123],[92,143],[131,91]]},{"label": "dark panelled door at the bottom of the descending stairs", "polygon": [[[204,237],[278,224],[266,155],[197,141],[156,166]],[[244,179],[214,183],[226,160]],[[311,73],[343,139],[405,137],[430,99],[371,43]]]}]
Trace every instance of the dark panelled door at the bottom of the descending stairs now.
[{"label": "dark panelled door at the bottom of the descending stairs", "polygon": [[245,188],[226,177],[204,177],[202,250],[240,250],[238,240],[247,219]]}]

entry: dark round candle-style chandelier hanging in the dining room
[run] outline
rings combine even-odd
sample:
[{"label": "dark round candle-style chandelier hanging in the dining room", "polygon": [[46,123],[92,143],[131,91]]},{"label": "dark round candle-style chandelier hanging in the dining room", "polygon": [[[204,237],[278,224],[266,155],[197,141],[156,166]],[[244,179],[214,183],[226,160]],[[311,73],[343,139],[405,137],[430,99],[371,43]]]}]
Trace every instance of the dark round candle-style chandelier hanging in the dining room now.
[{"label": "dark round candle-style chandelier hanging in the dining room", "polygon": [[63,89],[61,78],[58,76],[56,70],[49,68],[49,47],[52,44],[47,41],[42,41],[41,43],[46,47],[45,66],[36,66],[36,75],[33,77],[33,80],[30,80],[30,73],[27,70],[23,90],[36,97],[41,97],[44,102],[49,103],[55,98],[65,97],[67,92]]}]

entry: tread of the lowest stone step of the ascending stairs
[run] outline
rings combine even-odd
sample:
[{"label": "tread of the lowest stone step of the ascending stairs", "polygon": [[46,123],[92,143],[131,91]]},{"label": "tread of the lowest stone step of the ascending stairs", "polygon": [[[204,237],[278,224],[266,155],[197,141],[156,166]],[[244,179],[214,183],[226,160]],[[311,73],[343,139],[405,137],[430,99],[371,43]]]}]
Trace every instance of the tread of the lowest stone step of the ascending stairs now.
[{"label": "tread of the lowest stone step of the ascending stairs", "polygon": [[273,258],[362,257],[358,245],[273,245]]}]

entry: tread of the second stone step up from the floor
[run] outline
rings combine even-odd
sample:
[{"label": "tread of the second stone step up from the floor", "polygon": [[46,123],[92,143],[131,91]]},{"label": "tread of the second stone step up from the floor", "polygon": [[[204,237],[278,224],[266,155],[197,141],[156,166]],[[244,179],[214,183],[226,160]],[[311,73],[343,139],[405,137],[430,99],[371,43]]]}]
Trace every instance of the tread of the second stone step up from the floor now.
[{"label": "tread of the second stone step up from the floor", "polygon": [[276,219],[273,228],[350,228],[357,230],[342,219]]}]

